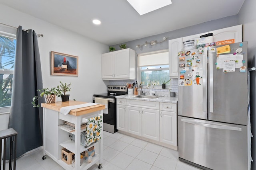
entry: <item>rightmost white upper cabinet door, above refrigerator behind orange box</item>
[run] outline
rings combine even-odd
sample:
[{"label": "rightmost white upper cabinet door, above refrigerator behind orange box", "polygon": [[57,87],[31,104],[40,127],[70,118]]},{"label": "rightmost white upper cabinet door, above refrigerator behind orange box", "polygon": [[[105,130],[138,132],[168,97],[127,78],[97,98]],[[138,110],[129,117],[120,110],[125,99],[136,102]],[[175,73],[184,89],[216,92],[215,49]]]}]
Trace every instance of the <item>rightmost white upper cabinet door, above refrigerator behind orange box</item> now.
[{"label": "rightmost white upper cabinet door, above refrigerator behind orange box", "polygon": [[214,42],[223,41],[227,39],[235,39],[235,43],[243,41],[242,25],[217,29],[214,31],[210,31],[210,33],[213,33]]}]

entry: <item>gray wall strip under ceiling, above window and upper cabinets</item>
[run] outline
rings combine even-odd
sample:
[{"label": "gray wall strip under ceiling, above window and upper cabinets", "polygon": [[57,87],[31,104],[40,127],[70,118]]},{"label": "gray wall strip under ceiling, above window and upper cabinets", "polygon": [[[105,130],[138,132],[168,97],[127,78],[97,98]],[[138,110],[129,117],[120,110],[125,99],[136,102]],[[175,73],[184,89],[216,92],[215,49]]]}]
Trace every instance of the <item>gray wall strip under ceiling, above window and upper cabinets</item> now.
[{"label": "gray wall strip under ceiling, above window and upper cabinets", "polygon": [[[159,41],[163,40],[163,37],[169,37],[168,39],[175,39],[175,38],[179,38],[179,37],[185,37],[188,35],[204,33],[204,32],[221,29],[221,28],[225,28],[225,27],[231,27],[234,25],[238,25],[237,20],[238,20],[237,16],[229,16],[226,18],[208,21],[208,22],[204,22],[204,23],[201,23],[198,25],[193,25],[190,27],[177,29],[174,31],[170,31],[170,32],[166,32],[166,33],[162,33],[162,34],[158,34],[158,35],[152,35],[150,37],[136,39],[134,41],[128,41],[128,42],[124,42],[124,43],[126,43],[126,46],[128,48],[134,49],[137,54],[151,52],[151,51],[157,51],[157,50],[162,50],[162,49],[168,49],[168,41],[156,44],[154,46],[151,46],[150,44],[148,44],[146,47],[141,47],[141,48],[136,48],[135,46],[138,44],[142,45],[146,41],[150,42],[150,41],[156,40],[159,42]],[[122,43],[122,44],[124,44],[124,43]],[[116,50],[120,50],[119,45],[120,44],[110,45],[110,47],[114,47]]]}]

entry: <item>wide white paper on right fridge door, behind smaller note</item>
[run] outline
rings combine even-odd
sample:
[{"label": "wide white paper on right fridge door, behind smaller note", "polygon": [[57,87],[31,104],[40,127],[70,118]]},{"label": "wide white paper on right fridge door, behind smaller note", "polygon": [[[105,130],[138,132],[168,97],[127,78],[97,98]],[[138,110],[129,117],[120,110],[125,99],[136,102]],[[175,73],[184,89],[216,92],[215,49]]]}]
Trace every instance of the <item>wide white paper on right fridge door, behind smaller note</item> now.
[{"label": "wide white paper on right fridge door, behind smaller note", "polygon": [[216,58],[216,68],[224,69],[224,61],[235,61],[235,68],[240,68],[243,66],[242,60],[243,60],[243,55],[242,54],[227,54],[227,55],[219,55],[219,57]]}]

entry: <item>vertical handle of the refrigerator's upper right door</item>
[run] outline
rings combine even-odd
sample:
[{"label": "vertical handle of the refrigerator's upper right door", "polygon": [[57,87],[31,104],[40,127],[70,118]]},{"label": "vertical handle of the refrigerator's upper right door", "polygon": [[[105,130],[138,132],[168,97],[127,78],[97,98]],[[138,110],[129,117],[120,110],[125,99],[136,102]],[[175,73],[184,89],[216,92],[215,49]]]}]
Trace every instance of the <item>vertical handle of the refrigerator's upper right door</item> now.
[{"label": "vertical handle of the refrigerator's upper right door", "polygon": [[209,54],[209,112],[213,113],[213,55]]}]

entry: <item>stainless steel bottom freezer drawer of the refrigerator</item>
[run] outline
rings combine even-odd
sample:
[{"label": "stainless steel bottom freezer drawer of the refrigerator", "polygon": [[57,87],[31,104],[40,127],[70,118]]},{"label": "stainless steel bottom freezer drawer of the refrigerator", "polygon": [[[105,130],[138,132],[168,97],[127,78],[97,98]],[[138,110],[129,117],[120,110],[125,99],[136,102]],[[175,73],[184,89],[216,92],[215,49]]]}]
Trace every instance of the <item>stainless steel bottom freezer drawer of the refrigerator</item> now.
[{"label": "stainless steel bottom freezer drawer of the refrigerator", "polygon": [[178,116],[178,130],[179,157],[188,163],[214,170],[247,170],[246,125]]}]

